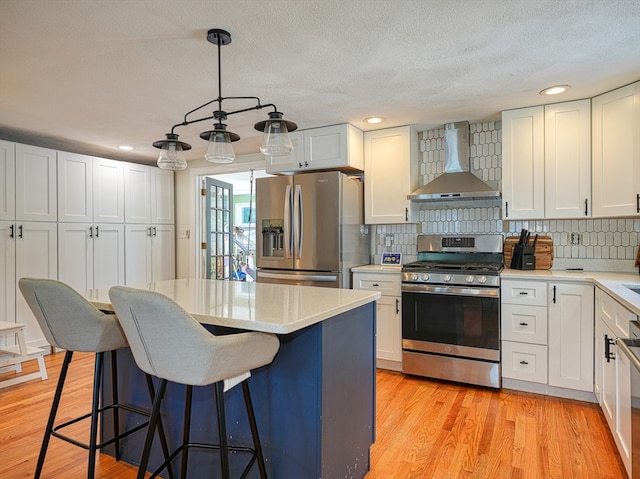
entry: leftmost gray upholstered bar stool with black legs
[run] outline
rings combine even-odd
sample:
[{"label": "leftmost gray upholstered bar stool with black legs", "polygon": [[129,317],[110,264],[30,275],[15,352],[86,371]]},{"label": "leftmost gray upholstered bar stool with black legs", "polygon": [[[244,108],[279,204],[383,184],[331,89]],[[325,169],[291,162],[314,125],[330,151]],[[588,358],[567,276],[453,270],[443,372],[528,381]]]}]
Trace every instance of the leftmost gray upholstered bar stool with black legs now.
[{"label": "leftmost gray upholstered bar stool with black legs", "polygon": [[[21,278],[18,281],[20,291],[24,296],[27,304],[33,311],[42,332],[47,341],[57,348],[66,350],[60,378],[51,405],[49,420],[42,440],[40,455],[34,478],[38,479],[42,473],[47,448],[51,436],[63,439],[71,444],[89,450],[89,465],[87,469],[87,478],[92,479],[95,473],[96,451],[109,444],[115,445],[116,460],[120,459],[120,439],[132,434],[149,424],[145,421],[142,424],[120,433],[119,426],[119,410],[128,410],[143,416],[149,417],[150,411],[145,411],[138,407],[127,404],[120,404],[118,401],[118,378],[116,365],[116,350],[128,347],[127,340],[122,332],[122,328],[113,314],[105,314],[86,299],[84,299],[77,291],[60,281],[41,278]],[[62,397],[64,382],[69,369],[69,364],[73,357],[74,351],[94,352],[96,353],[95,370],[93,378],[93,399],[91,412],[78,418],[65,421],[62,424],[54,426],[58,406]],[[100,385],[102,382],[102,370],[104,362],[104,353],[111,352],[111,389],[112,403],[109,405],[100,404]],[[155,391],[151,377],[147,376],[147,386],[149,388],[150,402],[155,398]],[[98,443],[98,418],[102,416],[106,410],[113,410],[113,437]],[[75,424],[87,418],[91,418],[89,444],[82,443],[70,436],[58,432],[60,429]],[[104,422],[103,422],[104,423]],[[155,425],[154,425],[155,430]],[[164,437],[162,423],[158,423],[158,431],[162,442],[165,458],[168,457],[168,447]],[[169,471],[169,475],[173,477],[173,471]]]}]

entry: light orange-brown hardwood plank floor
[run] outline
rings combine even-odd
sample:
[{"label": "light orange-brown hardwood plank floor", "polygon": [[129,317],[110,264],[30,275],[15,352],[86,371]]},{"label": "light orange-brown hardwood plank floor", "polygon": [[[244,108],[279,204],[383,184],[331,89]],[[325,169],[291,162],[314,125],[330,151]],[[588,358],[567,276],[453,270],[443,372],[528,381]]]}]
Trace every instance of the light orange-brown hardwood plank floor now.
[{"label": "light orange-brown hardwood plank floor", "polygon": [[[62,359],[47,356],[47,381],[0,389],[0,478],[33,477]],[[92,374],[93,355],[76,353],[60,418],[87,411]],[[376,421],[366,479],[626,477],[595,404],[378,370]],[[85,475],[86,451],[53,438],[43,479]],[[99,455],[97,479],[135,475],[135,467]]]}]

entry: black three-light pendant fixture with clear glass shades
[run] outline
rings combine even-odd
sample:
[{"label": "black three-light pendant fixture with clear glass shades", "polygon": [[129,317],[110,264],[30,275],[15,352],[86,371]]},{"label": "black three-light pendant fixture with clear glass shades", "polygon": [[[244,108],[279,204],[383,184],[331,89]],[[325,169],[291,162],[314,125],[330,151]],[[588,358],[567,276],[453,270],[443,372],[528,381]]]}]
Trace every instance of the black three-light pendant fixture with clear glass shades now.
[{"label": "black three-light pendant fixture with clear glass shades", "polygon": [[[171,128],[171,133],[166,134],[166,139],[159,140],[153,143],[153,146],[160,149],[160,156],[158,157],[158,167],[167,170],[183,170],[187,167],[187,162],[184,157],[184,151],[190,150],[191,145],[184,143],[178,139],[178,135],[175,133],[175,129],[179,126],[187,126],[192,123],[198,123],[201,121],[215,120],[213,130],[205,131],[200,134],[200,138],[209,142],[207,152],[204,157],[207,161],[212,163],[230,163],[235,158],[233,152],[232,142],[238,141],[240,137],[227,131],[227,125],[223,123],[231,115],[236,113],[243,113],[251,110],[261,110],[262,108],[273,108],[273,111],[269,113],[269,119],[260,121],[255,124],[255,129],[262,131],[262,144],[260,145],[260,151],[265,156],[286,156],[293,150],[293,144],[291,138],[289,138],[289,132],[294,131],[298,126],[282,118],[282,113],[278,111],[277,107],[272,104],[263,105],[260,102],[260,98],[255,96],[222,96],[222,74],[221,74],[221,62],[220,62],[220,47],[231,43],[231,34],[225,30],[219,28],[213,28],[207,32],[207,40],[218,47],[218,98],[208,101],[204,105],[201,105],[193,110],[185,113],[182,123],[177,123]],[[255,106],[243,108],[235,111],[224,111],[222,109],[222,102],[225,100],[253,100],[256,102]],[[196,111],[217,103],[218,108],[213,112],[211,116],[205,118],[198,118],[190,120],[189,116]]]}]

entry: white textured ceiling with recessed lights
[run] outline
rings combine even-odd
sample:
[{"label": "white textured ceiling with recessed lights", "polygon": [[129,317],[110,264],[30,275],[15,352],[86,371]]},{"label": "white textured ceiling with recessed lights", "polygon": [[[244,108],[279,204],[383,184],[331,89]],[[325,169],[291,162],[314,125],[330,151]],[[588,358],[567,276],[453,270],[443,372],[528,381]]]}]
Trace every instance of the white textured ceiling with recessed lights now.
[{"label": "white textured ceiling with recessed lights", "polygon": [[[151,143],[217,97],[210,28],[232,35],[222,95],[300,128],[495,120],[640,79],[640,0],[0,0],[0,138],[154,163]],[[538,94],[554,84],[572,88]],[[266,113],[226,121],[237,154]],[[211,126],[176,130],[188,159]]]}]

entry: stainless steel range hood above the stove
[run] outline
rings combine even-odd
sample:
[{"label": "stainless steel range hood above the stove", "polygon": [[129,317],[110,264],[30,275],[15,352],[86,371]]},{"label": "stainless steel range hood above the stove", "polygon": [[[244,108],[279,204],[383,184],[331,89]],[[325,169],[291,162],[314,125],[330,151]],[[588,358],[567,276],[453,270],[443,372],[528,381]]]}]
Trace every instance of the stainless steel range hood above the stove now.
[{"label": "stainless steel range hood above the stove", "polygon": [[469,122],[444,125],[444,173],[407,195],[412,201],[499,199],[500,192],[471,173],[469,168]]}]

